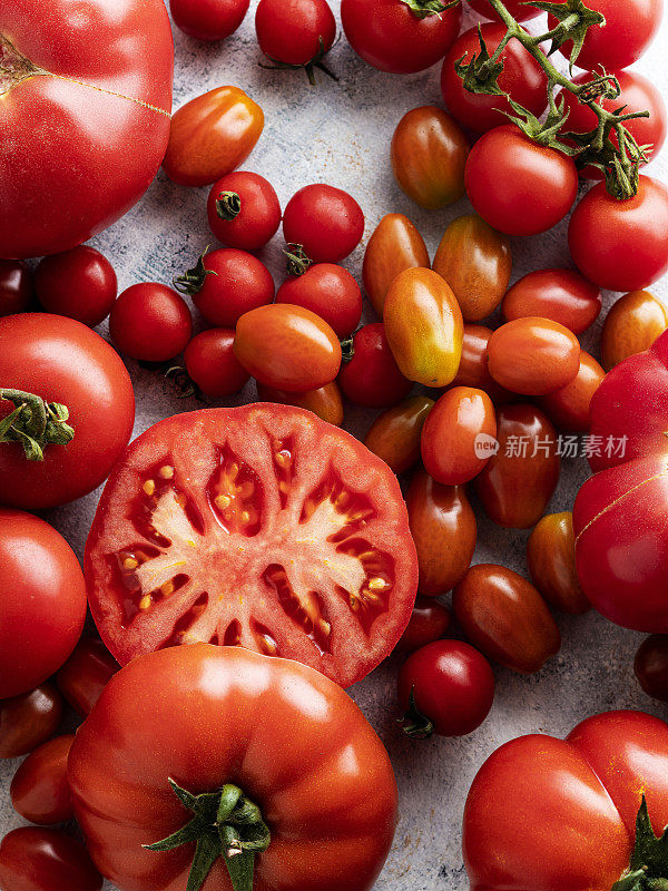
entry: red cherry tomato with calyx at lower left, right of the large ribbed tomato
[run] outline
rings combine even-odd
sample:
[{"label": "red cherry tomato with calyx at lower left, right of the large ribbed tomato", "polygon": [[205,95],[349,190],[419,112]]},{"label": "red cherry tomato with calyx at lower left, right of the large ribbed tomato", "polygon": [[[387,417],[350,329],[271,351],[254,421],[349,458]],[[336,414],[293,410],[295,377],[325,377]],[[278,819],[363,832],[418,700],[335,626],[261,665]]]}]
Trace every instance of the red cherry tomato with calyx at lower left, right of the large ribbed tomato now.
[{"label": "red cherry tomato with calyx at lower left, right of the large ribbed tomato", "polygon": [[462,640],[434,640],[399,670],[403,732],[412,740],[465,736],[480,727],[494,702],[492,666]]}]

